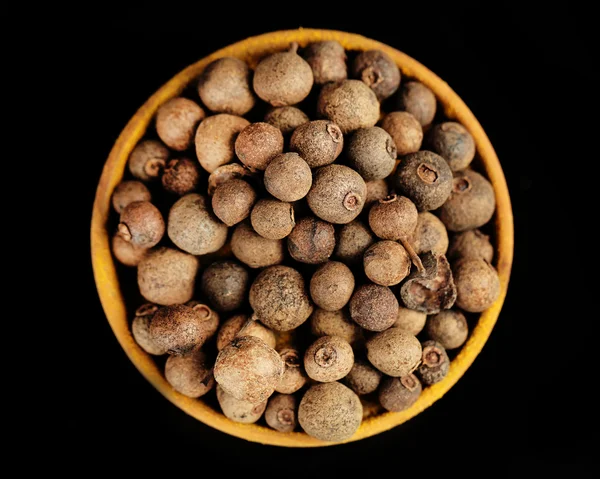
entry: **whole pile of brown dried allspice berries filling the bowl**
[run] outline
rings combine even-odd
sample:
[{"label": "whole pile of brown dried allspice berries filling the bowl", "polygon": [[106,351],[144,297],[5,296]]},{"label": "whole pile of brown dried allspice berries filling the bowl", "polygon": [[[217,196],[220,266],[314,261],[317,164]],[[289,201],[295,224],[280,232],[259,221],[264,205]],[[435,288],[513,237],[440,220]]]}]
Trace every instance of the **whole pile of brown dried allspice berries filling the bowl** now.
[{"label": "whole pile of brown dried allspice berries filling the bowl", "polygon": [[112,248],[176,391],[343,441],[444,379],[500,283],[492,185],[440,110],[385,52],[334,41],[217,59],[158,109]]}]

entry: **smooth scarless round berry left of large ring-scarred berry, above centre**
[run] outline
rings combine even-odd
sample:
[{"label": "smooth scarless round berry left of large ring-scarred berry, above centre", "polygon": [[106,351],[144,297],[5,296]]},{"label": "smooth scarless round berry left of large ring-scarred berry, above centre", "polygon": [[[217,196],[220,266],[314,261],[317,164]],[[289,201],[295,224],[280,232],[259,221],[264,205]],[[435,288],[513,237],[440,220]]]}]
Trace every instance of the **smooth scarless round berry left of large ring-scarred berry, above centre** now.
[{"label": "smooth scarless round berry left of large ring-scarred berry, above centre", "polygon": [[264,182],[266,190],[278,200],[297,201],[308,194],[312,172],[298,153],[283,153],[267,166]]}]

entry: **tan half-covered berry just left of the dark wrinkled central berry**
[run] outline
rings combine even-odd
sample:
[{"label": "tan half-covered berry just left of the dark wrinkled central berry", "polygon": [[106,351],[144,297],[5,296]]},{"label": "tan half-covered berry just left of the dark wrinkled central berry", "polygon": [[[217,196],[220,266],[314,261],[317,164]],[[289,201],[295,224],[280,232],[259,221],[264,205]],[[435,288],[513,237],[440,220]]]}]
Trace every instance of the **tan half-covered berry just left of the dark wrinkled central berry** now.
[{"label": "tan half-covered berry just left of the dark wrinkled central berry", "polygon": [[251,268],[279,264],[285,254],[283,241],[263,238],[247,223],[240,223],[233,230],[231,251],[237,259]]}]

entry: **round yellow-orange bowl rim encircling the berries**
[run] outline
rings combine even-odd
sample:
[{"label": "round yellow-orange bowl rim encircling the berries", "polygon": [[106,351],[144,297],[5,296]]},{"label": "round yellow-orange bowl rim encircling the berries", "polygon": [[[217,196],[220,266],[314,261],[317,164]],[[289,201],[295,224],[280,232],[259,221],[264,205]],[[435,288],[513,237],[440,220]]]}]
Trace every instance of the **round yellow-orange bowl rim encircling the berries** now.
[{"label": "round yellow-orange bowl rim encircling the berries", "polygon": [[345,442],[364,439],[402,424],[431,406],[458,381],[475,360],[492,332],[506,296],[513,259],[513,216],[510,198],[500,162],[487,135],[471,110],[442,79],[404,53],[360,35],[331,30],[299,29],[266,33],[248,38],[203,58],[176,75],[152,95],[129,121],[104,166],[94,202],[91,228],[92,263],[98,293],[108,322],[129,359],[169,401],[187,414],[220,431],[249,441],[277,446],[315,447],[328,446],[332,443],[319,441],[302,432],[284,434],[257,424],[235,423],[207,406],[202,400],[190,399],[174,391],[165,380],[163,371],[157,367],[152,357],[135,343],[130,333],[129,318],[111,255],[110,235],[106,225],[111,210],[113,189],[121,181],[129,154],[144,136],[159,105],[178,96],[206,65],[217,58],[238,57],[254,67],[260,58],[271,52],[283,50],[291,42],[298,42],[300,46],[305,46],[308,43],[322,40],[337,40],[347,50],[383,50],[394,59],[403,76],[415,78],[431,88],[443,105],[446,116],[462,123],[473,135],[479,161],[492,182],[497,202],[495,266],[500,275],[500,296],[492,307],[481,314],[469,339],[452,361],[448,376],[443,381],[424,389],[417,402],[403,412],[388,412],[364,420],[354,436]]}]

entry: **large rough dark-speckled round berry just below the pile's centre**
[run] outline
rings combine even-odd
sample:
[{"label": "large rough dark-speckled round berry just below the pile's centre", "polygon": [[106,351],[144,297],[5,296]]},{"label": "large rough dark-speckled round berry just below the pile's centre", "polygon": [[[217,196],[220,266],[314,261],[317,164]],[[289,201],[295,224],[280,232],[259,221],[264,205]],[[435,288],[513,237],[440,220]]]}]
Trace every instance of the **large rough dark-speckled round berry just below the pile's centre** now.
[{"label": "large rough dark-speckled round berry just below the pile's centre", "polygon": [[275,331],[300,326],[313,311],[302,275],[289,266],[271,266],[250,286],[250,306],[258,320]]}]

